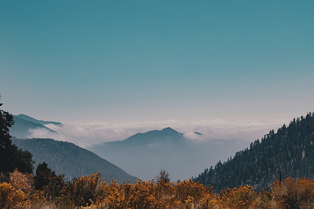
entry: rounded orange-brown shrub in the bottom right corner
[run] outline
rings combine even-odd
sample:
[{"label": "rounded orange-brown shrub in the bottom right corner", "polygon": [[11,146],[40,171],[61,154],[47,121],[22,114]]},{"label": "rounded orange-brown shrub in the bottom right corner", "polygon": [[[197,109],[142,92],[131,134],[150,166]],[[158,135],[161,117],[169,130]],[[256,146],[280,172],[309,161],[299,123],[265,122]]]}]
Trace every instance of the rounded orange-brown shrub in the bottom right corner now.
[{"label": "rounded orange-brown shrub in the bottom right corner", "polygon": [[290,209],[313,207],[314,181],[309,178],[286,178],[284,182],[274,181],[272,194],[276,201]]}]

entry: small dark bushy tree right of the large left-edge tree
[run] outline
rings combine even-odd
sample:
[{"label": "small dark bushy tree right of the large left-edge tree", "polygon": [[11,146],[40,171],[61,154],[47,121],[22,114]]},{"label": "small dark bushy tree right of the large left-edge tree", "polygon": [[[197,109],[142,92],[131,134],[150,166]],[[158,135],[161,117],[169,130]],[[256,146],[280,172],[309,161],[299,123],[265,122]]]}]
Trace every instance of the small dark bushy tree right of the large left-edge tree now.
[{"label": "small dark bushy tree right of the large left-edge tree", "polygon": [[51,171],[46,162],[38,164],[34,179],[35,190],[41,190],[44,186],[49,185],[54,177],[56,177],[55,171]]}]

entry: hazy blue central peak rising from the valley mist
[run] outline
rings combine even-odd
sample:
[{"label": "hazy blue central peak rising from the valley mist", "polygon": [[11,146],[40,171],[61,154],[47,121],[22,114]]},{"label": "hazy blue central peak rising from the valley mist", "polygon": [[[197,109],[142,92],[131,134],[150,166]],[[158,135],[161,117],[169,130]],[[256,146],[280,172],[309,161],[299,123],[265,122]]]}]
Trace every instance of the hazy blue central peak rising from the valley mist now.
[{"label": "hazy blue central peak rising from the valley mist", "polygon": [[163,168],[176,181],[191,178],[208,164],[227,159],[247,145],[236,140],[193,141],[172,128],[164,128],[87,149],[143,180],[154,178]]}]

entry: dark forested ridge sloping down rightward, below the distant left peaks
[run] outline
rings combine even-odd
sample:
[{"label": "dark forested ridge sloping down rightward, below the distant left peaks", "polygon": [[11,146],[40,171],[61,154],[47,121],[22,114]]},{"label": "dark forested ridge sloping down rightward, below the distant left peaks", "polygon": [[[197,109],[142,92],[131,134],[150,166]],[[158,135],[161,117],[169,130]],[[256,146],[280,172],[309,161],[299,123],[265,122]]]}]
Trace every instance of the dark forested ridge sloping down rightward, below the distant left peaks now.
[{"label": "dark forested ridge sloping down rightward, below the distant left peaks", "polygon": [[137,180],[116,165],[73,143],[50,138],[12,138],[12,143],[33,154],[35,168],[37,164],[45,161],[51,170],[55,170],[57,174],[65,174],[68,180],[82,175],[96,174],[98,171],[101,172],[102,177],[115,178],[118,183],[128,179]]}]

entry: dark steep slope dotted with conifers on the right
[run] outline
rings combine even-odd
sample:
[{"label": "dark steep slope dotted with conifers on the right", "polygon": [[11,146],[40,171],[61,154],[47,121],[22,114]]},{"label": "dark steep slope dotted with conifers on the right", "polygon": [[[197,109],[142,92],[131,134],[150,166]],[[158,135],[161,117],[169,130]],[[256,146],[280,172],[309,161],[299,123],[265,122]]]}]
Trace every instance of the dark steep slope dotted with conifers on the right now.
[{"label": "dark steep slope dotted with conifers on the right", "polygon": [[198,175],[195,181],[212,185],[216,191],[223,188],[252,185],[258,190],[268,188],[273,179],[289,176],[314,178],[314,113],[293,119],[277,133],[270,131],[249,149],[236,152],[233,159],[220,161]]}]

